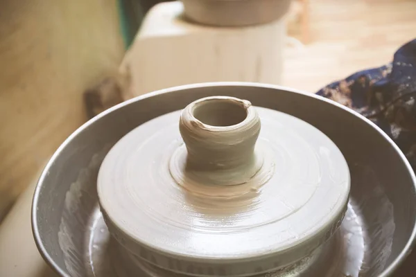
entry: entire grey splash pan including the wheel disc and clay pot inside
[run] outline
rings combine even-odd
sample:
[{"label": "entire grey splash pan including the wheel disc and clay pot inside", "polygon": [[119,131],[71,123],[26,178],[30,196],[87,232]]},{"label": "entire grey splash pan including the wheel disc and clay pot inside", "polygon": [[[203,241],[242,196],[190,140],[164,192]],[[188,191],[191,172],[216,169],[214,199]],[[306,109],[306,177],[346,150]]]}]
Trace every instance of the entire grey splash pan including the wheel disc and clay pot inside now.
[{"label": "entire grey splash pan including the wheel disc and clay pot inside", "polygon": [[35,190],[33,233],[61,276],[411,276],[415,195],[404,155],[354,111],[194,84],[72,134]]}]

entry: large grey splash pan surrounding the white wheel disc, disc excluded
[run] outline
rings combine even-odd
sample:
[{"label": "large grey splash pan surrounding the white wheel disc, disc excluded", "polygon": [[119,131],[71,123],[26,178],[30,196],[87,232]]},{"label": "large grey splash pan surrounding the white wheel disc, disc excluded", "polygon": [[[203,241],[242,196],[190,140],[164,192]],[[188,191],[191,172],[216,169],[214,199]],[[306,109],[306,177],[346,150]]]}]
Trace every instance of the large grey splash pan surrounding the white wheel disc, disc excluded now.
[{"label": "large grey splash pan surrounding the white wheel disc, disc excluded", "polygon": [[[397,145],[370,120],[335,102],[272,85],[240,82],[192,84],[148,93],[103,112],[69,136],[42,172],[32,210],[37,247],[58,274],[114,276],[112,262],[107,260],[109,235],[96,195],[98,169],[112,145],[152,118],[218,95],[282,111],[329,136],[343,152],[351,173],[349,205],[355,214],[345,220],[354,217],[360,228],[362,243],[349,247],[349,251],[357,249],[350,254],[361,262],[360,276],[411,275],[415,269],[404,275],[400,267],[415,240],[415,175]],[[341,246],[354,244],[349,233],[335,239]],[[330,247],[324,251],[329,251],[327,258],[338,255],[331,253]],[[336,264],[336,258],[327,259],[319,267]],[[411,261],[406,262],[406,267],[411,266]],[[312,276],[299,270],[301,274],[290,276]],[[343,272],[329,276],[357,275]]]}]

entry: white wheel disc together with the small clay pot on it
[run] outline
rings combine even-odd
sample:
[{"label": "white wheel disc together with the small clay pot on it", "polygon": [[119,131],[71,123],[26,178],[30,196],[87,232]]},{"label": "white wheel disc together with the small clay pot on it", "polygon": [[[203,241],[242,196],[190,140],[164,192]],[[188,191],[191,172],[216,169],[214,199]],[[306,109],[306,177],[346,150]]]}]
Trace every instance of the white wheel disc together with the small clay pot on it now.
[{"label": "white wheel disc together with the small clay pot on it", "polygon": [[349,170],[312,125],[214,97],[125,135],[103,161],[98,196],[133,260],[250,276],[287,267],[331,236],[346,211]]}]

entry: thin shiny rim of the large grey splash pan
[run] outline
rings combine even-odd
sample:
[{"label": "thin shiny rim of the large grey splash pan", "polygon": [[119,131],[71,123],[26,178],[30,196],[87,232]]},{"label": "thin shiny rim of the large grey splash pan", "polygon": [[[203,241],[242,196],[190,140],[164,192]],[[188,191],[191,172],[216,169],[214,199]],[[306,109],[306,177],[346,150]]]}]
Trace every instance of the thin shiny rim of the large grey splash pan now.
[{"label": "thin shiny rim of the large grey splash pan", "polygon": [[[329,104],[335,105],[336,107],[338,107],[340,109],[343,109],[343,110],[349,112],[350,114],[353,114],[354,116],[358,116],[358,118],[361,118],[362,120],[364,120],[365,123],[369,124],[371,127],[376,129],[376,131],[378,131],[379,134],[381,134],[384,137],[384,139],[386,141],[388,141],[390,143],[390,145],[392,145],[392,147],[397,151],[397,153],[401,157],[401,160],[404,162],[404,165],[408,169],[410,177],[412,177],[412,179],[413,179],[413,186],[415,187],[415,190],[416,190],[415,172],[413,171],[413,168],[410,166],[410,163],[408,162],[408,159],[406,159],[404,153],[401,152],[400,148],[396,145],[396,143],[394,141],[392,141],[392,139],[390,139],[390,137],[387,134],[385,134],[385,132],[383,132],[383,130],[381,130],[377,125],[372,123],[372,121],[365,118],[361,114],[358,114],[358,112],[356,112],[352,109],[349,109],[349,108],[347,108],[343,105],[340,105],[338,102],[335,102],[333,100],[324,98],[322,96],[315,95],[314,93],[308,93],[306,91],[300,91],[300,90],[297,90],[297,89],[290,89],[288,87],[279,86],[279,85],[275,85],[275,84],[262,84],[262,83],[258,83],[258,82],[202,82],[202,83],[197,83],[197,84],[185,84],[185,85],[182,85],[182,86],[171,87],[171,88],[168,88],[168,89],[161,89],[161,90],[158,90],[158,91],[153,91],[153,92],[150,92],[150,93],[146,93],[144,95],[137,96],[135,98],[126,100],[124,102],[121,102],[120,104],[115,105],[114,107],[111,107],[110,109],[107,109],[107,110],[103,111],[101,114],[98,114],[94,118],[91,118],[90,120],[88,120],[86,123],[84,123],[83,125],[78,127],[78,129],[76,129],[75,132],[73,132],[71,135],[69,135],[67,139],[64,140],[64,142],[59,146],[58,150],[56,150],[55,153],[53,153],[51,159],[49,159],[49,161],[46,164],[44,170],[42,170],[42,174],[40,175],[39,181],[37,181],[37,185],[36,185],[36,188],[35,188],[35,193],[33,195],[33,202],[32,202],[32,208],[31,208],[32,233],[33,233],[33,238],[35,239],[35,244],[36,244],[37,250],[40,252],[42,258],[45,260],[45,262],[53,270],[55,270],[58,274],[60,274],[60,276],[70,277],[69,274],[67,274],[64,271],[64,269],[62,269],[59,265],[56,264],[56,262],[53,260],[51,255],[48,253],[48,251],[44,247],[44,244],[43,244],[41,236],[40,236],[39,226],[37,225],[37,217],[38,217],[38,215],[37,215],[37,206],[39,204],[39,197],[40,197],[40,191],[42,190],[42,184],[44,182],[44,179],[46,178],[46,175],[48,175],[48,172],[49,172],[51,166],[53,165],[54,161],[60,156],[60,152],[62,152],[62,150],[64,148],[66,148],[67,145],[76,136],[78,136],[78,134],[80,134],[85,129],[87,129],[89,127],[89,125],[92,125],[92,123],[94,123],[97,120],[107,116],[107,114],[110,114],[111,112],[115,111],[116,109],[120,109],[121,107],[130,105],[133,102],[137,102],[137,101],[140,101],[140,100],[143,100],[143,99],[146,99],[146,98],[150,98],[150,97],[153,97],[153,96],[158,96],[158,95],[162,95],[162,94],[165,94],[165,93],[171,93],[171,92],[175,92],[175,91],[181,91],[181,90],[184,90],[184,89],[196,89],[196,88],[200,88],[200,87],[259,87],[259,88],[266,88],[266,89],[279,89],[279,90],[288,91],[288,92],[291,92],[291,93],[301,94],[302,96],[315,98],[317,100],[324,101],[324,102],[327,102]],[[416,201],[416,195],[413,198]],[[406,260],[407,256],[411,253],[415,244],[416,244],[416,223],[413,225],[412,233],[410,235],[410,238],[406,242],[405,247],[401,250],[401,252],[397,256],[397,258],[395,258],[395,260],[393,260],[390,263],[390,265],[387,268],[385,268],[383,270],[383,272],[381,272],[379,277],[390,276],[401,265],[401,263],[404,262],[404,260]]]}]

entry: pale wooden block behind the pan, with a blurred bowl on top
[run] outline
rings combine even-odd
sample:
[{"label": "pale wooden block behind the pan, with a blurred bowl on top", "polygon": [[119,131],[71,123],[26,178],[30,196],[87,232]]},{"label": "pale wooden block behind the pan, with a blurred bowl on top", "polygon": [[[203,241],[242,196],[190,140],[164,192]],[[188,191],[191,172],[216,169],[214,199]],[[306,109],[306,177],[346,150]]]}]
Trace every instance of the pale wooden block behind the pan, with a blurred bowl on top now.
[{"label": "pale wooden block behind the pan, with a blurred bowl on top", "polygon": [[280,84],[285,22],[238,28],[194,24],[180,1],[160,3],[146,15],[121,72],[127,97],[182,84],[217,81]]}]

